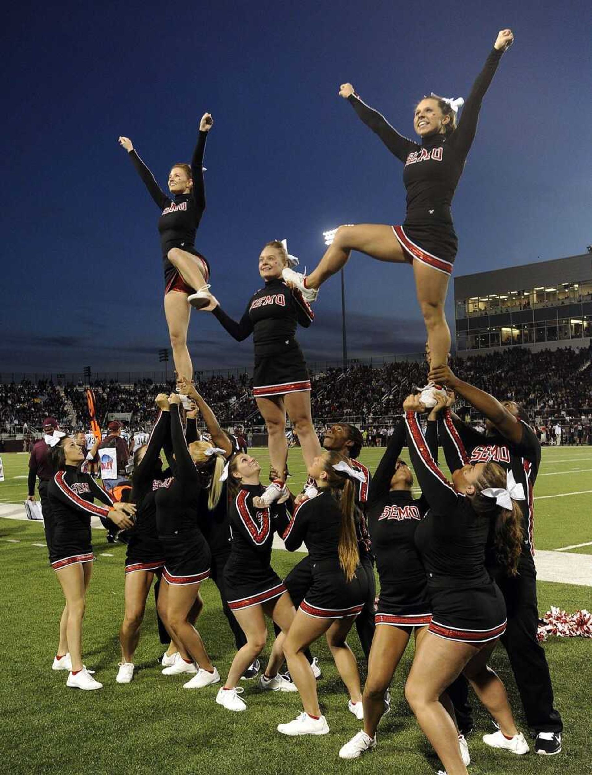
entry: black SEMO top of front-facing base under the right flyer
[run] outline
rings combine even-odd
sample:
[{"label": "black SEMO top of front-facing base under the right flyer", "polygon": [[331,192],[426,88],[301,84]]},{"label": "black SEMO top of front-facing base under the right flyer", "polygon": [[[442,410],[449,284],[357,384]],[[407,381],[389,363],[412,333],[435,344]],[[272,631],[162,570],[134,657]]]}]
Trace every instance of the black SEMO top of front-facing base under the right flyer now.
[{"label": "black SEMO top of front-facing base under the right flyer", "polygon": [[[438,459],[438,423],[428,421],[426,440]],[[368,522],[372,551],[381,588],[419,589],[426,584],[425,570],[415,546],[415,532],[430,505],[424,495],[417,500],[410,491],[391,490],[390,480],[405,443],[405,423],[398,422],[382,460],[374,472],[368,494]]]}]

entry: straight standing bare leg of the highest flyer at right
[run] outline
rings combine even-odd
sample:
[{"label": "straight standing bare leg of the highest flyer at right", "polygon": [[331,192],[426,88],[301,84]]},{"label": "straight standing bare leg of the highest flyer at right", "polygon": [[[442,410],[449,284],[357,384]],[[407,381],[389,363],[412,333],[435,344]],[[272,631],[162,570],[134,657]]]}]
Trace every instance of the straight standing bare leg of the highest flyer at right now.
[{"label": "straight standing bare leg of the highest flyer at right", "polygon": [[417,301],[428,331],[430,366],[433,369],[448,363],[451,338],[444,305],[450,277],[418,260],[414,260],[414,274]]}]

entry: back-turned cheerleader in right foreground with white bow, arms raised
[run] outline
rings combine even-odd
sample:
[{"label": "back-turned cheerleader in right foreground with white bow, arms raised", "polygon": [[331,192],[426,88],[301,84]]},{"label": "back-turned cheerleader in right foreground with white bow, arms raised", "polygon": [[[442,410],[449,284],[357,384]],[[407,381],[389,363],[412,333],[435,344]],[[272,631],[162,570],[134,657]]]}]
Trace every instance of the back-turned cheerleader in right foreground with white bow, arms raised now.
[{"label": "back-turned cheerleader in right foreground with white bow, arms raised", "polygon": [[[500,563],[516,574],[521,552],[524,491],[497,463],[476,463],[452,471],[446,480],[417,421],[424,407],[409,396],[407,444],[430,510],[415,532],[428,574],[431,622],[417,644],[405,697],[448,775],[466,775],[455,723],[441,695],[463,673],[499,727],[483,741],[512,753],[528,753],[514,723],[504,684],[487,662],[506,629],[506,607],[485,567],[490,536]],[[449,459],[452,443],[442,439]]]}]

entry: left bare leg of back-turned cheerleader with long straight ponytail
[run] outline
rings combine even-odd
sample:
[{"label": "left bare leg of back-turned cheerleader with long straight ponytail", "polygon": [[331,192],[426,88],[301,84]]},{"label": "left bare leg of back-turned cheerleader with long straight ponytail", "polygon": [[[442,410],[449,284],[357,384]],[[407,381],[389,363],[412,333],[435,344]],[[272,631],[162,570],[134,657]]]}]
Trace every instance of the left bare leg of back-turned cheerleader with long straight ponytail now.
[{"label": "left bare leg of back-turned cheerleader with long straight ponytail", "polygon": [[322,715],[317,698],[317,680],[304,656],[304,649],[327,632],[333,619],[316,619],[300,608],[284,641],[284,654],[292,680],[296,684],[304,710],[317,718]]}]

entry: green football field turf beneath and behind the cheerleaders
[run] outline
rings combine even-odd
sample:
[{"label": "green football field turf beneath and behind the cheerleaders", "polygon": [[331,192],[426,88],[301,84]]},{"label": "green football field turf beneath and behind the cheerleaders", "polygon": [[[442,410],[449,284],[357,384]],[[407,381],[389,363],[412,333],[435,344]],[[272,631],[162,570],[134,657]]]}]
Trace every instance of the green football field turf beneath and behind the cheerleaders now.
[{"label": "green football field turf beneath and behind the cheerleaders", "polygon": [[[254,454],[267,470],[266,450],[257,449]],[[366,449],[361,460],[374,470],[380,455],[380,449]],[[27,460],[23,454],[2,455],[5,481],[0,482],[0,506],[19,503],[26,497]],[[298,449],[290,452],[290,469],[295,489],[304,479]],[[587,544],[569,551],[592,553],[592,448],[545,449],[535,496],[537,548]],[[352,762],[340,760],[338,750],[358,731],[359,722],[348,712],[347,695],[324,642],[313,646],[323,671],[318,683],[320,704],[331,727],[331,733],[324,737],[291,739],[276,731],[279,723],[299,712],[297,694],[263,693],[255,682],[244,682],[248,710],[233,714],[215,703],[219,685],[184,691],[183,677],[162,676],[157,659],[163,649],[158,642],[152,597],[136,654],[137,673],[131,684],[116,684],[125,546],[107,544],[105,532],[99,530],[93,533],[93,539],[97,561],[88,591],[85,663],[96,670],[104,688],[82,692],[65,686],[67,673],[51,670],[63,601],[47,563],[42,525],[0,518],[2,772],[430,775],[440,768],[403,698],[403,684],[413,656],[411,646],[393,679],[393,710],[381,722],[376,752]],[[275,570],[286,575],[300,556],[275,551]],[[202,594],[205,605],[198,629],[224,677],[234,656],[234,641],[212,582],[203,584]],[[592,587],[539,582],[538,595],[541,613],[551,605],[567,611],[590,609]],[[365,668],[355,629],[349,642],[360,660],[363,681]],[[473,757],[470,773],[590,772],[592,642],[549,639],[544,647],[556,706],[566,725],[563,753],[551,758],[534,753],[516,757],[488,749],[481,735],[492,728],[475,701],[476,730],[469,737]],[[267,646],[265,656],[268,650]],[[492,667],[507,686],[518,726],[528,732],[503,649],[494,653]]]}]

